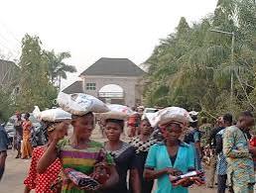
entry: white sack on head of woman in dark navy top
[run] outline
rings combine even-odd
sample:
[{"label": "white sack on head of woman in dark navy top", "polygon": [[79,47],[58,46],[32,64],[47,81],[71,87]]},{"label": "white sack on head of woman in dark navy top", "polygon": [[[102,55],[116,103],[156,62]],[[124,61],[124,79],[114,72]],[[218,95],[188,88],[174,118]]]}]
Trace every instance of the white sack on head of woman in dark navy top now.
[{"label": "white sack on head of woman in dark navy top", "polygon": [[127,106],[110,104],[107,105],[110,109],[107,113],[101,113],[100,118],[103,120],[115,119],[115,120],[127,120],[127,118],[132,115],[134,112]]}]

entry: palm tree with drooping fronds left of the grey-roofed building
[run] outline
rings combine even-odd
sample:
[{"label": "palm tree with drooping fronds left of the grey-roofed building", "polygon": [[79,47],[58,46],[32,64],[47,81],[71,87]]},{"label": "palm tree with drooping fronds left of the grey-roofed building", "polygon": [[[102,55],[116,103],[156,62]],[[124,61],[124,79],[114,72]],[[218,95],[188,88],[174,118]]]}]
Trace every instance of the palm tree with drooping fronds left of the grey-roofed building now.
[{"label": "palm tree with drooping fronds left of the grey-roofed building", "polygon": [[51,82],[61,88],[61,79],[66,79],[66,72],[76,72],[75,66],[64,63],[64,59],[69,58],[71,54],[69,52],[60,52],[56,54],[55,50],[52,50],[46,51],[46,55]]}]

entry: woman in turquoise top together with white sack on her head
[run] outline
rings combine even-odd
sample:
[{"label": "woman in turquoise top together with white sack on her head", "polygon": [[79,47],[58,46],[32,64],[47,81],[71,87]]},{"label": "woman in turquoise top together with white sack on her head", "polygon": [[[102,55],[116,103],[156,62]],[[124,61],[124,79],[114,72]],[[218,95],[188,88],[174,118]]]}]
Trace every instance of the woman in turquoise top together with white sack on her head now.
[{"label": "woman in turquoise top together with white sack on her head", "polygon": [[157,124],[165,140],[150,147],[144,171],[146,180],[158,180],[158,193],[188,193],[193,182],[202,183],[196,176],[172,181],[194,170],[192,146],[180,141],[188,123],[188,112],[182,108],[171,107],[159,112]]}]

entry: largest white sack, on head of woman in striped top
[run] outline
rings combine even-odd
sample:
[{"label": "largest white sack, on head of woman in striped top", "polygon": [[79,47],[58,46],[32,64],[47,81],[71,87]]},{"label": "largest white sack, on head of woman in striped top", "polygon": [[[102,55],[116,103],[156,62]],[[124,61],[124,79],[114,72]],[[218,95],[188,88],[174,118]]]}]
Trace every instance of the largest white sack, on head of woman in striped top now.
[{"label": "largest white sack, on head of woman in striped top", "polygon": [[82,116],[89,112],[105,113],[109,111],[102,101],[84,93],[65,94],[61,92],[57,102],[64,111],[72,115]]}]

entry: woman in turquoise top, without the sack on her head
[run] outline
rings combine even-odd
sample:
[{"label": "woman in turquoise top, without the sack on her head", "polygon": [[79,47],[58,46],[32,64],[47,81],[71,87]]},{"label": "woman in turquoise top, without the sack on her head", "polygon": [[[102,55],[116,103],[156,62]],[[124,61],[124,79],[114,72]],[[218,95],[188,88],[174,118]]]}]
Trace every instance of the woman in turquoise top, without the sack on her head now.
[{"label": "woman in turquoise top, without the sack on her head", "polygon": [[179,140],[183,124],[170,122],[161,126],[165,141],[151,146],[145,163],[146,180],[158,179],[156,193],[187,193],[192,184],[190,178],[179,186],[173,186],[169,175],[181,175],[194,170],[194,151],[191,145]]}]

